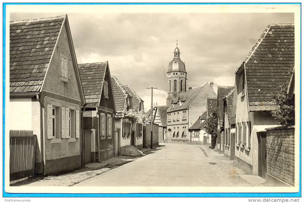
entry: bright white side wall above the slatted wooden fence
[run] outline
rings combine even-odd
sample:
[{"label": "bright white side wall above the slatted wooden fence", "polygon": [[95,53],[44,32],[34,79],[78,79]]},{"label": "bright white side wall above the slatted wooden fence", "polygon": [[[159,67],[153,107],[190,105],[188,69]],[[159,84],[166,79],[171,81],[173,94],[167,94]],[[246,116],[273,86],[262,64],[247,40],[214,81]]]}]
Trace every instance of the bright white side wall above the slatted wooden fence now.
[{"label": "bright white side wall above the slatted wooden fence", "polygon": [[33,130],[31,107],[32,98],[14,98],[9,100],[10,130]]}]

